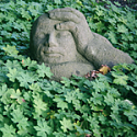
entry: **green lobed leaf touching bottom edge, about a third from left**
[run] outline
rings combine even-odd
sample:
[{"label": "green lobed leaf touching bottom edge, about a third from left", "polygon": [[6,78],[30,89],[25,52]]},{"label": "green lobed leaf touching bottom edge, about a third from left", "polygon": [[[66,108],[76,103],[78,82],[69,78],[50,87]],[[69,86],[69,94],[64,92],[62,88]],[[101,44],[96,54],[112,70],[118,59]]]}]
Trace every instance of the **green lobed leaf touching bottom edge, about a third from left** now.
[{"label": "green lobed leaf touching bottom edge, about a third from left", "polygon": [[41,137],[48,137],[52,133],[52,127],[47,125],[44,118],[37,121],[37,126],[34,126],[34,128],[37,130],[37,136]]}]

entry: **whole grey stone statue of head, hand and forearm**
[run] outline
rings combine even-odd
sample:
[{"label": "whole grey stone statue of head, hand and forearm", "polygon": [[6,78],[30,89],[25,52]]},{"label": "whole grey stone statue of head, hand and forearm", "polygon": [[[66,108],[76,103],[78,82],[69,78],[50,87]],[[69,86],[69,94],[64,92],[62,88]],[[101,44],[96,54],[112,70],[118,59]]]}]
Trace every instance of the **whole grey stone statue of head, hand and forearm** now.
[{"label": "whole grey stone statue of head, hand and forearm", "polygon": [[133,62],[105,37],[91,32],[84,15],[71,8],[41,15],[31,31],[30,49],[33,59],[50,67],[57,81],[71,75],[84,76],[101,65]]}]

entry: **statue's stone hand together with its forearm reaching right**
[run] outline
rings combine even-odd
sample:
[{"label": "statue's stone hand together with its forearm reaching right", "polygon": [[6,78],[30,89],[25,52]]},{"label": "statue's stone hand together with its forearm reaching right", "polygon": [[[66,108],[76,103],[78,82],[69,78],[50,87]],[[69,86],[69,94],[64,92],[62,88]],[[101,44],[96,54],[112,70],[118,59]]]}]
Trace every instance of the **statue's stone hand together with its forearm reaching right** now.
[{"label": "statue's stone hand together with its forearm reaching right", "polygon": [[127,54],[114,48],[105,37],[92,33],[84,15],[78,10],[64,8],[55,9],[48,13],[50,19],[62,21],[56,24],[56,28],[71,32],[78,52],[90,62],[93,62],[96,68],[101,65],[112,67],[119,62],[133,62]]}]

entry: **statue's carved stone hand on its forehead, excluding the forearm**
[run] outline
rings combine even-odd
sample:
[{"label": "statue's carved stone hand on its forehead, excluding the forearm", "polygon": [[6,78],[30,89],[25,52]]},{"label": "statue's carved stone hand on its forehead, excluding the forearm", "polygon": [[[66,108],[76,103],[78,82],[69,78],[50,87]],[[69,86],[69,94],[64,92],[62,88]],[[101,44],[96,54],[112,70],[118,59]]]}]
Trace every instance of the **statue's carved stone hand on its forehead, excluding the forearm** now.
[{"label": "statue's carved stone hand on its forehead, excluding the forearm", "polygon": [[84,48],[93,38],[84,15],[71,8],[55,9],[48,13],[50,19],[62,21],[56,24],[56,30],[71,32],[75,37],[77,49],[84,55]]}]

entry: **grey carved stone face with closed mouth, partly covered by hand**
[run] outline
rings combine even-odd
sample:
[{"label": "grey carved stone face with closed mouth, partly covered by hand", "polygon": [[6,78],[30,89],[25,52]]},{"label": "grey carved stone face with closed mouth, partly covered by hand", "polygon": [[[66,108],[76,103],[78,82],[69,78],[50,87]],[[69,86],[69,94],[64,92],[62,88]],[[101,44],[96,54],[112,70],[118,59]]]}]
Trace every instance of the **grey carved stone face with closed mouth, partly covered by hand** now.
[{"label": "grey carved stone face with closed mouth, partly covered by hand", "polygon": [[50,20],[42,15],[32,31],[33,55],[38,62],[60,64],[77,60],[73,36],[68,31],[57,31],[56,24],[61,21]]}]

